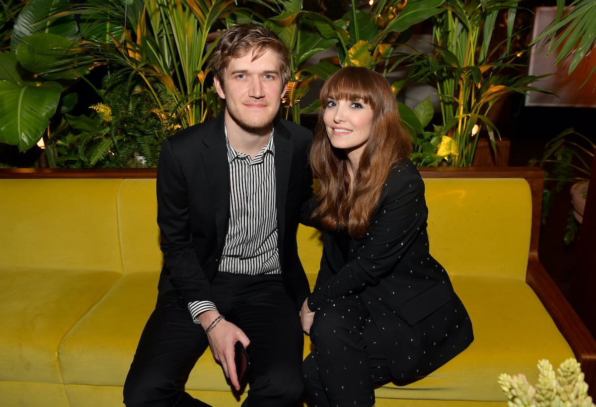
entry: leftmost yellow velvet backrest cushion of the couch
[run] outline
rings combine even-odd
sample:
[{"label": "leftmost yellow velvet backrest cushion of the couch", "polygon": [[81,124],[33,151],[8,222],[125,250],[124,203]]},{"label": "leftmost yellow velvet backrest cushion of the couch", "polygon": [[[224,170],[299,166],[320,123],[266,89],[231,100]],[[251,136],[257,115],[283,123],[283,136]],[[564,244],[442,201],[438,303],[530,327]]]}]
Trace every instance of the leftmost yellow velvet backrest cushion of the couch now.
[{"label": "leftmost yellow velvet backrest cushion of the couch", "polygon": [[0,268],[122,272],[120,179],[0,179]]}]

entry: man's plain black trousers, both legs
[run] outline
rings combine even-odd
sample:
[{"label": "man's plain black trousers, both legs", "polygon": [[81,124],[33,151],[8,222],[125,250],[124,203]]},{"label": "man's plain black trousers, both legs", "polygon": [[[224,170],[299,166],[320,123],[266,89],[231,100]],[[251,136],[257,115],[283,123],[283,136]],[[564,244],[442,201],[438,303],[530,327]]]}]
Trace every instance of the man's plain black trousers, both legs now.
[{"label": "man's plain black trousers, both legs", "polygon": [[[219,312],[250,339],[250,390],[243,406],[295,407],[303,391],[304,337],[296,304],[281,276],[220,272],[212,292]],[[208,406],[184,391],[191,369],[208,346],[207,335],[192,321],[181,297],[162,296],[141,334],[125,382],[125,404]]]}]

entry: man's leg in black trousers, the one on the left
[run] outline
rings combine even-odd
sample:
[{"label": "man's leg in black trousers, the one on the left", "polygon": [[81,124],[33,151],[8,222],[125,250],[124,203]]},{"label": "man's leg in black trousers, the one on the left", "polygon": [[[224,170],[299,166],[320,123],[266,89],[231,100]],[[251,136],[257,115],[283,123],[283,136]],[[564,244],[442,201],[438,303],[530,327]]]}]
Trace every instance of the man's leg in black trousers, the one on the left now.
[{"label": "man's leg in black trousers, the one on the left", "polygon": [[124,403],[143,406],[209,406],[184,392],[188,374],[209,342],[178,296],[160,299],[141,334],[124,385]]}]

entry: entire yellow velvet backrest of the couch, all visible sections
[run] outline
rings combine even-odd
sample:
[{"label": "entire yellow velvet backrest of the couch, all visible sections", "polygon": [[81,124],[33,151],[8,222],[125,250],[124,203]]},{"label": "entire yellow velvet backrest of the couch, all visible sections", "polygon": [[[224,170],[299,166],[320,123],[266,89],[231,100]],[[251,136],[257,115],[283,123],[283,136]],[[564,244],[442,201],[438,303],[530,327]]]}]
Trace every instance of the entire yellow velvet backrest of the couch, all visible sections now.
[{"label": "entire yellow velvet backrest of the couch, all visible sections", "polygon": [[[424,173],[423,173],[424,175]],[[424,178],[431,254],[451,275],[526,278],[532,194],[523,178]],[[0,179],[0,270],[162,267],[154,178]],[[62,231],[65,231],[64,233]],[[68,231],[68,232],[66,232]],[[300,226],[310,274],[315,229]]]}]

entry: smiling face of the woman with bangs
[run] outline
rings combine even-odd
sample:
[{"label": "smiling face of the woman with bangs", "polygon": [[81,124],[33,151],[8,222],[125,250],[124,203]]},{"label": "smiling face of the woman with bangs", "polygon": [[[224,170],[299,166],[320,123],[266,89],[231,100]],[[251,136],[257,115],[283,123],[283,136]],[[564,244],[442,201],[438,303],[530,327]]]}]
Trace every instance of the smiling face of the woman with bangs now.
[{"label": "smiling face of the woman with bangs", "polygon": [[373,107],[362,101],[328,100],[323,122],[331,145],[358,163],[373,126]]}]

